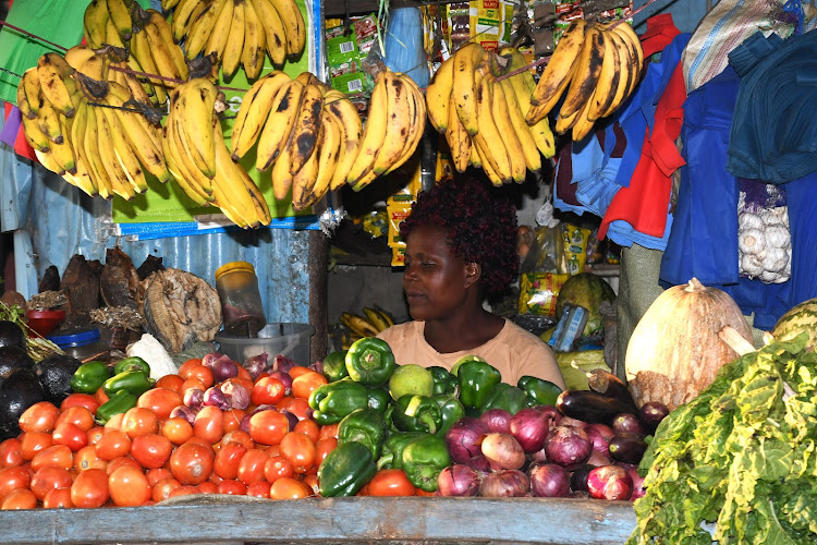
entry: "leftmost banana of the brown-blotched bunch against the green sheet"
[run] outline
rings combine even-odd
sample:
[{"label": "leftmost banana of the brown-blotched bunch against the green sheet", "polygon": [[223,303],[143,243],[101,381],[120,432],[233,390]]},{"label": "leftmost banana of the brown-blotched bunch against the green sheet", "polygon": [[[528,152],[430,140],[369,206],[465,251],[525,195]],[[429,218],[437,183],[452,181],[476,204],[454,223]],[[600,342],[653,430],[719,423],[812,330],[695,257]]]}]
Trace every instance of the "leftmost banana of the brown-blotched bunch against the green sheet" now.
[{"label": "leftmost banana of the brown-blotched bunch against the green sheet", "polygon": [[255,145],[276,95],[289,81],[290,76],[276,70],[255,82],[246,92],[235,118],[230,142],[234,161],[244,157]]}]

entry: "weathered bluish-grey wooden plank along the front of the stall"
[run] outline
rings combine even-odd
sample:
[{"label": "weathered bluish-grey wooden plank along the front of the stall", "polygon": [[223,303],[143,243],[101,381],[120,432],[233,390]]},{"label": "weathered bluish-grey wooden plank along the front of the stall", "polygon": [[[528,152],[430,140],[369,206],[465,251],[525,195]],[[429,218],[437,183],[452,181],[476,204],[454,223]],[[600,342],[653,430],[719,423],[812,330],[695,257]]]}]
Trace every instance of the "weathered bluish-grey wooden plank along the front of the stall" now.
[{"label": "weathered bluish-grey wooden plank along the front of the stall", "polygon": [[632,504],[626,501],[422,497],[269,501],[221,498],[178,498],[187,502],[139,508],[4,511],[0,513],[0,528],[3,529],[0,543],[601,545],[623,543],[635,528],[635,513]]}]

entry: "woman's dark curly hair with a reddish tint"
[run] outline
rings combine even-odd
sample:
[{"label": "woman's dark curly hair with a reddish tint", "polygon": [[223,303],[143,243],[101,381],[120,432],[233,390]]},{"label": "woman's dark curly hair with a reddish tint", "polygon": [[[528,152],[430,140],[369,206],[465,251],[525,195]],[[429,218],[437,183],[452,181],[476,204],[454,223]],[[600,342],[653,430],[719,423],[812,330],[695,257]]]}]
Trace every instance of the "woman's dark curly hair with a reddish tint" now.
[{"label": "woman's dark curly hair with a reddish tint", "polygon": [[406,239],[417,226],[442,228],[455,255],[480,265],[486,296],[500,294],[515,278],[516,209],[487,179],[460,175],[420,192],[400,234]]}]

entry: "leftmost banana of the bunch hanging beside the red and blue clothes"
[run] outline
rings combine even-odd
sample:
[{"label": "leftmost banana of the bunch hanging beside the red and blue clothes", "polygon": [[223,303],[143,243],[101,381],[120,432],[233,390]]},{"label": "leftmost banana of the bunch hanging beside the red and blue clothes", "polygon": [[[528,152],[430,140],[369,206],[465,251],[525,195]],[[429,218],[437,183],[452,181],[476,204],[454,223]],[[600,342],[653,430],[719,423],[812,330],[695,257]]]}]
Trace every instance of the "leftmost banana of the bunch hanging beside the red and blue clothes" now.
[{"label": "leftmost banana of the bunch hanging beside the red and blue clothes", "polygon": [[585,20],[573,20],[557,44],[531,97],[533,108],[525,114],[528,124],[534,124],[550,113],[570,85],[583,52],[586,26]]}]

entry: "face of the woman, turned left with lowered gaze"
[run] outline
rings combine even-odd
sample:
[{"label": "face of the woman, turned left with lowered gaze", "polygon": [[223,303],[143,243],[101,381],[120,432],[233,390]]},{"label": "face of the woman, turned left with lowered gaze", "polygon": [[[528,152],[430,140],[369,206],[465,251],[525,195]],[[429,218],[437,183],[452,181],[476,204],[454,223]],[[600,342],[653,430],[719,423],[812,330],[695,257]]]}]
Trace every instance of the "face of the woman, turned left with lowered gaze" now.
[{"label": "face of the woman, turned left with lowered gaze", "polygon": [[454,255],[446,232],[431,226],[412,229],[406,240],[403,290],[414,319],[442,319],[462,311],[477,267]]}]

